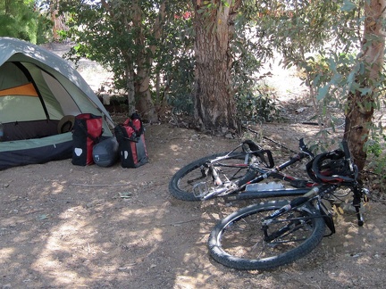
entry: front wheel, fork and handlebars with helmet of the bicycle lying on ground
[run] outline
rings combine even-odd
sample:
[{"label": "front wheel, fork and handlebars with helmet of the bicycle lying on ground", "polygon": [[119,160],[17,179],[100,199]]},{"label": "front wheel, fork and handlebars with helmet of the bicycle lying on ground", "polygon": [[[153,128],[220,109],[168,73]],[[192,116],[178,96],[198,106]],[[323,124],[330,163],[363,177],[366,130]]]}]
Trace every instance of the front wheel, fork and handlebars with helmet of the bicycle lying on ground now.
[{"label": "front wheel, fork and handlebars with helmet of the bicycle lying on ground", "polygon": [[212,230],[209,252],[214,260],[236,269],[271,269],[289,264],[312,252],[335,227],[327,201],[337,189],[349,188],[358,225],[363,226],[361,203],[368,191],[357,181],[357,167],[347,142],[343,151],[321,153],[307,164],[307,173],[318,186],[291,201],[249,205],[222,219]]}]

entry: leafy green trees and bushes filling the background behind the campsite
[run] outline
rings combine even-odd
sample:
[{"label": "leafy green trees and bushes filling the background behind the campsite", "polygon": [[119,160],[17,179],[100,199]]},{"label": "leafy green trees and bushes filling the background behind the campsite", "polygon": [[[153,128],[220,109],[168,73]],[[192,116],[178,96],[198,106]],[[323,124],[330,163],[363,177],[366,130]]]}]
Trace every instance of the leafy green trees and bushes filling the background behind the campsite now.
[{"label": "leafy green trees and bushes filling the background behind the campsite", "polygon": [[335,125],[327,107],[345,114],[345,137],[362,169],[367,152],[382,155],[385,139],[382,122],[373,121],[384,105],[384,7],[374,0],[0,0],[0,35],[71,40],[69,57],[113,71],[129,112],[148,121],[189,115],[195,128],[217,133],[277,118],[259,70],[281,54],[308,87],[321,136],[323,123]]}]

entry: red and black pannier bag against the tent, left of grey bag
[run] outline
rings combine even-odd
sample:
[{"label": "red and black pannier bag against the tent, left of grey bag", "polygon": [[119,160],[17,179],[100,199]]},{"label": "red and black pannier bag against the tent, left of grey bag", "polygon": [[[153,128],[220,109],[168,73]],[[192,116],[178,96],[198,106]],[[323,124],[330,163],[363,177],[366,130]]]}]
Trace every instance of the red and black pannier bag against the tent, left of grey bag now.
[{"label": "red and black pannier bag against the tent, left of grey bag", "polygon": [[102,136],[103,120],[92,113],[82,113],[75,117],[72,129],[72,164],[87,166],[93,164],[93,146]]}]

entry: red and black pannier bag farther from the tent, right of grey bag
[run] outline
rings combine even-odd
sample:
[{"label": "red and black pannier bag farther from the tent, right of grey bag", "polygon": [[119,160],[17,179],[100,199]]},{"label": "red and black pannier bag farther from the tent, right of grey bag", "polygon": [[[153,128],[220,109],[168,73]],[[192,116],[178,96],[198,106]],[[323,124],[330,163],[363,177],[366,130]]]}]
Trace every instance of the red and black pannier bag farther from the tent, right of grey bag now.
[{"label": "red and black pannier bag farther from the tent, right of grey bag", "polygon": [[114,128],[122,168],[138,168],[148,162],[142,121],[138,113]]}]

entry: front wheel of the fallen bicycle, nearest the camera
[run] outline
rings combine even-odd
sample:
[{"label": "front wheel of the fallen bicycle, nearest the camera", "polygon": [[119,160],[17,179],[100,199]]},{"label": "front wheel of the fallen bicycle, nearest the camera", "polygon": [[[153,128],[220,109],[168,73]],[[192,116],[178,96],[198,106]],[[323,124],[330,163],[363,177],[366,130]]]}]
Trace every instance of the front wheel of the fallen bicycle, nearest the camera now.
[{"label": "front wheel of the fallen bicycle, nearest the camera", "polygon": [[266,216],[288,203],[261,202],[222,219],[209,236],[211,256],[230,268],[263,270],[289,264],[313,251],[325,230],[314,207],[288,211],[262,226]]}]

